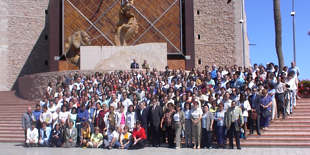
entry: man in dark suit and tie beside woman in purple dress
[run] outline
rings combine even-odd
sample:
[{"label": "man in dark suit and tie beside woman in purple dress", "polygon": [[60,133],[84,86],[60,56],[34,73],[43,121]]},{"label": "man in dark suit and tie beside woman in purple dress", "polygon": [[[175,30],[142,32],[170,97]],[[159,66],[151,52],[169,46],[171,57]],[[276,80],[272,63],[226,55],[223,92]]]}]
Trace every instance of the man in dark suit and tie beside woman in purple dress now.
[{"label": "man in dark suit and tie beside woman in purple dress", "polygon": [[257,112],[257,119],[256,120],[252,120],[251,117],[249,117],[249,123],[250,123],[250,134],[253,134],[253,130],[254,130],[254,122],[256,122],[256,132],[258,135],[261,135],[260,133],[260,126],[259,126],[259,120],[260,120],[260,103],[261,103],[261,96],[257,95],[257,88],[253,88],[252,89],[252,95],[249,96],[249,102],[251,105],[251,110],[249,111],[249,115],[252,115],[253,111]]}]

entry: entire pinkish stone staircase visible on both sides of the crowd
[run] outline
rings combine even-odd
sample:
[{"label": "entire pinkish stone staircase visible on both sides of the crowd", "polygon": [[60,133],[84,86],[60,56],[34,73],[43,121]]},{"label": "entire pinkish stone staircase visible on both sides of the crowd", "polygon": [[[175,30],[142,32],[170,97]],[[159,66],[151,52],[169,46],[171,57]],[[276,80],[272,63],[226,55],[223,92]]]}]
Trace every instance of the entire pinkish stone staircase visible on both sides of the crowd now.
[{"label": "entire pinkish stone staircase visible on both sides of the crowd", "polygon": [[[30,106],[35,109],[37,103],[22,99],[18,91],[0,92],[0,142],[24,142],[21,127],[22,114]],[[282,116],[269,123],[262,135],[246,135],[240,139],[241,147],[310,147],[310,99],[297,100],[294,114]],[[249,130],[247,131],[247,134]],[[235,140],[234,140],[235,141]],[[228,142],[228,140],[227,140]]]}]

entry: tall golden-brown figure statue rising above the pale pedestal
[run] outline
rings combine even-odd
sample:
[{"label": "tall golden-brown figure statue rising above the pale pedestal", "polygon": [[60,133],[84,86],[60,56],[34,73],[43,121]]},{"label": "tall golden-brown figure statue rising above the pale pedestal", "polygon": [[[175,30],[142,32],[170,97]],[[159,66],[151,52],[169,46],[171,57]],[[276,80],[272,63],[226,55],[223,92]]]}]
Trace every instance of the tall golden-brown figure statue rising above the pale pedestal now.
[{"label": "tall golden-brown figure statue rising above the pale pedestal", "polygon": [[115,45],[126,46],[126,40],[135,37],[138,33],[139,24],[135,19],[135,15],[131,13],[131,5],[134,0],[130,0],[122,5],[119,11],[119,22],[116,24]]}]

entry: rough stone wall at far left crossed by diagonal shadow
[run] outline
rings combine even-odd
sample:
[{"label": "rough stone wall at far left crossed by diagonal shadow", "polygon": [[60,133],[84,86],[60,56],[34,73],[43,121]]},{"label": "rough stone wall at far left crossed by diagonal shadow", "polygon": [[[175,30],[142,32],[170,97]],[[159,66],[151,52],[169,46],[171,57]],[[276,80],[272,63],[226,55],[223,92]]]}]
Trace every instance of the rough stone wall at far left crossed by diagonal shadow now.
[{"label": "rough stone wall at far left crossed by diagonal shadow", "polygon": [[49,70],[49,0],[0,2],[0,90],[16,90],[19,77]]}]

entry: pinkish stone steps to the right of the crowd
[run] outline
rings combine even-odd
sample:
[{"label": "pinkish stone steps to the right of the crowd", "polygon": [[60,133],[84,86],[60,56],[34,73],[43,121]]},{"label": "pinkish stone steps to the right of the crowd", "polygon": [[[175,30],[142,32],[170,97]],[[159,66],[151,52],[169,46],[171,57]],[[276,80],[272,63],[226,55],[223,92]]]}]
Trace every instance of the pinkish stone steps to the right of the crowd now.
[{"label": "pinkish stone steps to the right of the crowd", "polygon": [[[267,131],[261,130],[246,135],[247,139],[240,140],[241,147],[294,147],[310,148],[310,99],[297,100],[293,113],[269,122]],[[249,133],[249,130],[247,131]]]}]

